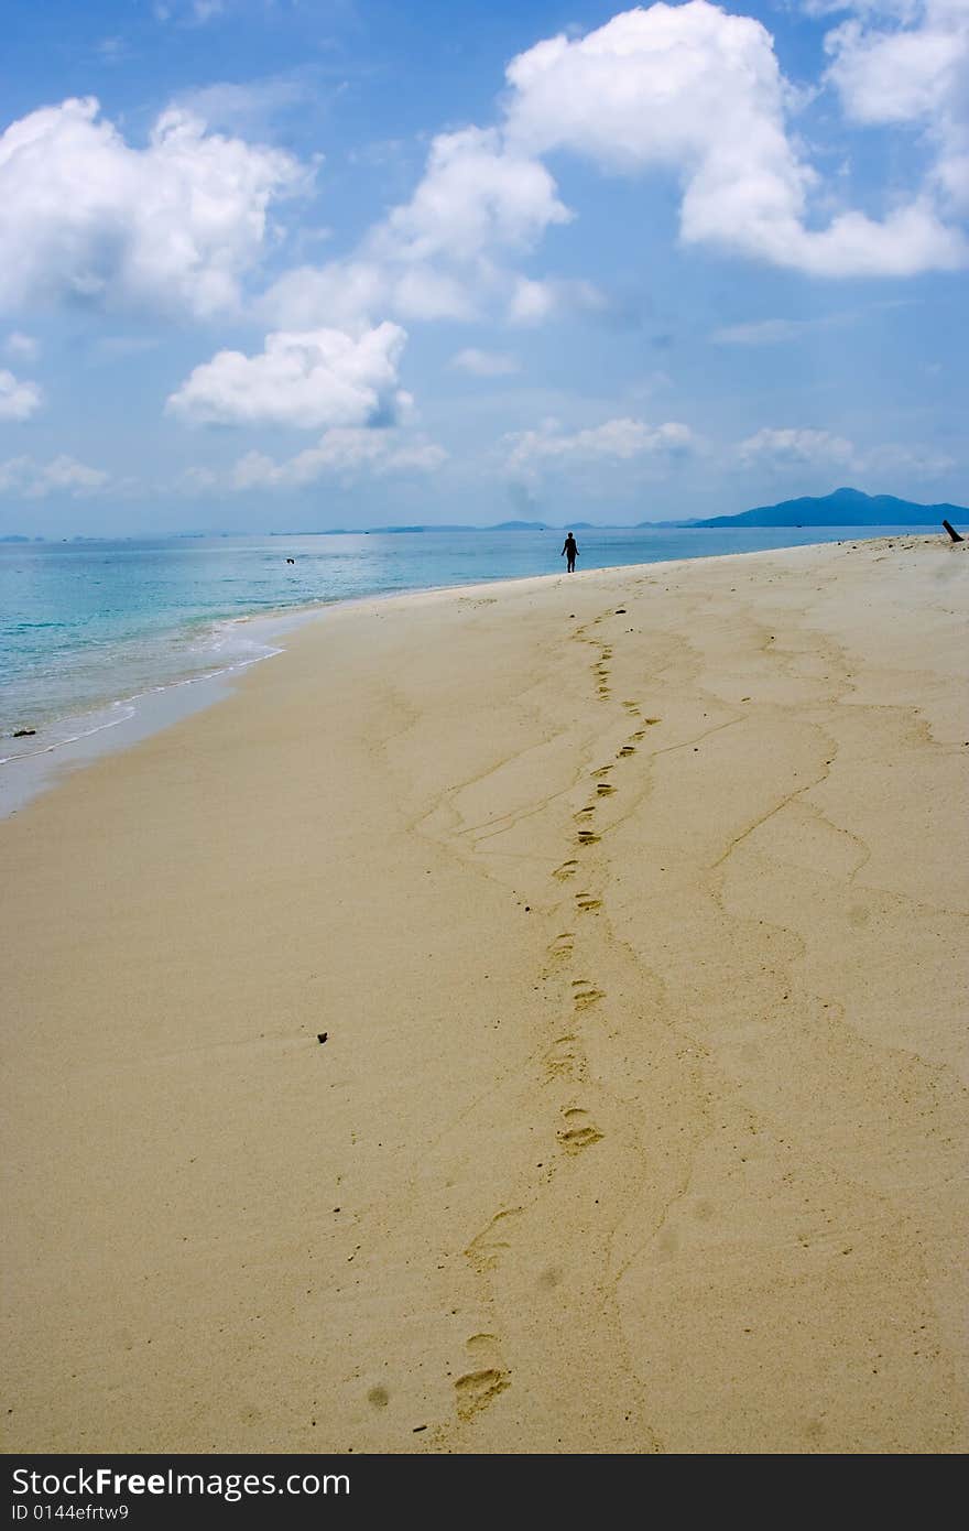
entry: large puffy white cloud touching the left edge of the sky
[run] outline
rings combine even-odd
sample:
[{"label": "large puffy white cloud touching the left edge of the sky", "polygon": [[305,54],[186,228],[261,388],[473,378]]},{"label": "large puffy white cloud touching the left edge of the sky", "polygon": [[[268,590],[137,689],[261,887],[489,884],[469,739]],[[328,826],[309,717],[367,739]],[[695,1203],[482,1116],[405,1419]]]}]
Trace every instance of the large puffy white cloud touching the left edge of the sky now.
[{"label": "large puffy white cloud touching the left edge of the sky", "polygon": [[93,98],[43,107],[0,136],[0,309],[231,309],[260,259],[269,204],[305,184],[286,153],[165,112],[145,149]]}]

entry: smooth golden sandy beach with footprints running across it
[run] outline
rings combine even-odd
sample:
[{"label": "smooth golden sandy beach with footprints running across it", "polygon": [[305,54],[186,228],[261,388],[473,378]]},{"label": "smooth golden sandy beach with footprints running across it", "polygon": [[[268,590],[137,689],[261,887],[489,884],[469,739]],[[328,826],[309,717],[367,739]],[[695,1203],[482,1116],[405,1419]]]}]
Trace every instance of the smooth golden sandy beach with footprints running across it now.
[{"label": "smooth golden sandy beach with footprints running across it", "polygon": [[334,608],[0,824],[5,1450],[964,1451],[967,548]]}]

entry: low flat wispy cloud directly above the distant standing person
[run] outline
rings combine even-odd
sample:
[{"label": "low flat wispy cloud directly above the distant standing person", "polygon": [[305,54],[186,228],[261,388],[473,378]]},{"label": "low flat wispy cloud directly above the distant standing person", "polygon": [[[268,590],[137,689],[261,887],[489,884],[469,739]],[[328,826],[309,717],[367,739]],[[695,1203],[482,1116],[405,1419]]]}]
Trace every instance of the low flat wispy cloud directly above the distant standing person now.
[{"label": "low flat wispy cloud directly above the distant standing person", "polygon": [[537,430],[511,433],[505,446],[510,449],[508,473],[534,479],[546,468],[684,456],[697,449],[698,441],[689,426],[678,421],[649,426],[643,419],[623,418],[566,432],[557,419],[546,419]]}]

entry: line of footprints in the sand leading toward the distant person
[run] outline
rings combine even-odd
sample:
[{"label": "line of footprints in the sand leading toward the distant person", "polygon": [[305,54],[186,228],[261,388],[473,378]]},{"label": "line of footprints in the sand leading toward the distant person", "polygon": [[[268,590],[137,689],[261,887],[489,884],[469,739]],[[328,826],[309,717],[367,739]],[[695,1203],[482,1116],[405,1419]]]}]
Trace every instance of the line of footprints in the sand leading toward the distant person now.
[{"label": "line of footprints in the sand leading toward the distant person", "polygon": [[[609,612],[605,615],[609,615]],[[595,619],[595,622],[602,620],[602,617]],[[612,648],[608,643],[585,638],[582,631],[577,635],[582,641],[595,643],[599,648],[599,658],[592,664],[592,674],[597,695],[602,700],[608,700],[611,697],[609,660],[612,658]],[[641,724],[641,727],[631,733],[629,738],[620,746],[614,761],[599,766],[591,772],[591,779],[595,784],[594,798],[574,814],[574,821],[579,825],[576,830],[576,842],[580,850],[588,850],[588,847],[599,845],[602,841],[602,836],[597,834],[589,825],[595,818],[597,807],[612,798],[617,792],[617,787],[609,781],[617,761],[623,761],[635,755],[637,744],[646,738],[648,727],[660,723],[660,718],[644,718],[637,701],[623,701],[623,707],[631,718],[634,717]],[[577,876],[580,865],[582,860],[579,856],[569,856],[553,870],[551,876],[557,882],[568,883]],[[573,894],[573,902],[576,912],[580,916],[597,914],[603,906],[603,900],[585,888]],[[574,931],[562,931],[556,935],[548,946],[550,968],[542,974],[543,978],[553,978],[562,974],[562,969],[574,960],[576,939]],[[550,1085],[560,1087],[568,1084],[574,1090],[585,1082],[588,1070],[585,1047],[582,1044],[582,1024],[588,1012],[606,1000],[606,994],[589,978],[573,978],[569,984],[569,997],[571,1024],[566,1021],[560,1035],[554,1036],[550,1043],[543,1055],[543,1069],[545,1079]],[[556,1142],[566,1159],[576,1159],[588,1148],[594,1148],[595,1144],[602,1142],[603,1133],[595,1125],[591,1113],[583,1105],[576,1104],[574,1098],[569,1099],[568,1104],[559,1107],[557,1116],[559,1124],[556,1128]],[[490,1272],[499,1266],[502,1257],[513,1248],[516,1228],[524,1216],[524,1206],[504,1208],[496,1213],[490,1223],[470,1242],[464,1254],[479,1277],[487,1280]],[[470,1370],[464,1372],[455,1382],[455,1407],[458,1418],[464,1422],[473,1419],[475,1415],[481,1413],[484,1409],[488,1409],[488,1405],[511,1386],[511,1370],[502,1358],[501,1344],[496,1335],[471,1335],[467,1341],[467,1352]]]}]

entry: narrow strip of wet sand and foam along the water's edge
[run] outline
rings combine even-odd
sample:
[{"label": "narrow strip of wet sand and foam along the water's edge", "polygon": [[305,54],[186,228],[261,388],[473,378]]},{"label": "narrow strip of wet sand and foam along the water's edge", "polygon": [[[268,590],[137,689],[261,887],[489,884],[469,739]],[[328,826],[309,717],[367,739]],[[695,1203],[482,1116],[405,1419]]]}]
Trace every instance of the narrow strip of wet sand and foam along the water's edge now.
[{"label": "narrow strip of wet sand and foam along the water's edge", "polygon": [[[928,531],[922,533],[918,530],[889,531],[886,528],[873,528],[873,531],[880,533],[880,536],[842,540],[876,542],[891,540],[891,537],[902,536],[920,537],[923,534],[926,539],[932,536],[934,540],[934,534],[929,534]],[[840,545],[840,542],[794,544],[793,547],[821,548],[836,545]],[[680,559],[660,559],[655,563],[606,565],[595,570],[579,570],[579,573],[608,574],[620,573],[622,570],[692,563],[697,562],[697,559],[707,562],[724,557],[755,557],[761,553],[776,551],[788,550],[755,548],[738,553],[693,554],[690,557]],[[793,551],[793,548],[790,551]],[[354,606],[361,602],[409,599],[423,594],[453,594],[458,591],[476,589],[479,586],[484,589],[493,585],[513,585],[525,580],[554,580],[560,577],[560,573],[562,571],[508,577],[499,576],[494,579],[458,585],[416,585],[406,589],[375,591],[370,594],[347,596],[334,600],[314,600],[299,606],[280,606],[274,611],[250,611],[234,617],[220,617],[207,623],[207,626],[211,634],[216,634],[227,626],[254,626],[263,631],[265,638],[269,641],[282,638],[286,632],[295,631],[308,622],[321,620],[328,612],[337,608]],[[181,637],[182,632],[184,629],[173,628],[170,637]],[[93,707],[86,707],[81,712],[66,712],[52,717],[37,730],[37,744],[24,746],[15,753],[0,756],[0,822],[24,808],[35,798],[55,788],[72,772],[93,764],[104,755],[132,749],[135,744],[150,738],[162,729],[171,727],[182,718],[193,717],[197,712],[216,706],[219,701],[223,701],[227,697],[234,694],[239,678],[245,675],[251,666],[259,664],[263,660],[276,658],[283,652],[285,645],[272,648],[269,641],[269,646],[263,654],[257,654],[251,658],[237,658],[225,666],[211,671],[202,669],[197,674],[173,672],[171,678],[162,680],[156,686],[150,686],[145,690],[109,697],[106,701]],[[61,732],[60,738],[54,738],[52,743],[44,743],[49,739],[52,730],[64,729],[77,732]],[[12,743],[14,735],[9,735],[8,738]],[[0,750],[3,749],[3,743],[5,741],[0,738]]]}]

